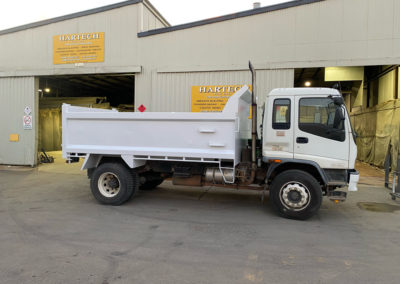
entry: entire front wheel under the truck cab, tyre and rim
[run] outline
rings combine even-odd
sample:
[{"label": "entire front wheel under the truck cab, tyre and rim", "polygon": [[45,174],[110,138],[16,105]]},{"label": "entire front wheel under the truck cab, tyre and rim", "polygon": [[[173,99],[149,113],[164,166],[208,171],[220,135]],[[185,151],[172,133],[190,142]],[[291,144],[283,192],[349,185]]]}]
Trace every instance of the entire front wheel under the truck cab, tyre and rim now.
[{"label": "entire front wheel under the truck cab, tyre and rim", "polygon": [[288,170],[280,173],[272,182],[270,201],[283,216],[305,220],[321,207],[321,185],[309,173]]}]

